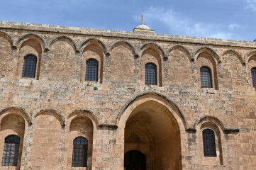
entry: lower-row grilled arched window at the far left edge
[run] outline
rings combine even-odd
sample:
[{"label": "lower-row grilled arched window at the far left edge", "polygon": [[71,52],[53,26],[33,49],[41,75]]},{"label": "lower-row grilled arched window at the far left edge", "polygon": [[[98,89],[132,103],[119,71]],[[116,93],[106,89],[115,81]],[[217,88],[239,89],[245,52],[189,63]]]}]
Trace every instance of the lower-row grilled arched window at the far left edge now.
[{"label": "lower-row grilled arched window at the far left edge", "polygon": [[17,166],[19,147],[20,137],[9,135],[5,138],[2,166]]}]

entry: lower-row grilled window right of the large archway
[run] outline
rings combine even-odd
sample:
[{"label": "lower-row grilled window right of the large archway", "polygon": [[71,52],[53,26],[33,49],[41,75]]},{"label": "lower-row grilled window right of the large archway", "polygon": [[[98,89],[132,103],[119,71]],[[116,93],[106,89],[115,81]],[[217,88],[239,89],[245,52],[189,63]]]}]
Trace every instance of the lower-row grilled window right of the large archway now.
[{"label": "lower-row grilled window right of the large archway", "polygon": [[214,131],[203,130],[204,157],[216,157],[216,144]]}]

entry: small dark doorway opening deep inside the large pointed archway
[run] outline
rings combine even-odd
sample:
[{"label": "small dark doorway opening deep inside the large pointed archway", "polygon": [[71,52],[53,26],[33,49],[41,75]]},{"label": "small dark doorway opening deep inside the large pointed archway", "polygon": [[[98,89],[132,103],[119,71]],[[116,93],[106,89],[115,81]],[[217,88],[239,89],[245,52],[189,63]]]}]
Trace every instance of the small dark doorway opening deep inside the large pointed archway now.
[{"label": "small dark doorway opening deep inside the large pointed archway", "polygon": [[124,154],[124,166],[127,170],[145,170],[146,169],[146,157],[138,150],[131,150]]}]

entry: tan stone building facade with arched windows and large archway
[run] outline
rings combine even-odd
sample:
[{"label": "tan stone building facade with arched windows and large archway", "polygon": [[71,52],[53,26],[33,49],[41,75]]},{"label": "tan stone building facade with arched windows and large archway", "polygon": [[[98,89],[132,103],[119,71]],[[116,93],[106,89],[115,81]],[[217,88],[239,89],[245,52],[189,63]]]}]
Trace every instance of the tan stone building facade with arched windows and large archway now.
[{"label": "tan stone building facade with arched windows and large archway", "polygon": [[0,169],[256,169],[256,42],[0,21],[0,60]]}]

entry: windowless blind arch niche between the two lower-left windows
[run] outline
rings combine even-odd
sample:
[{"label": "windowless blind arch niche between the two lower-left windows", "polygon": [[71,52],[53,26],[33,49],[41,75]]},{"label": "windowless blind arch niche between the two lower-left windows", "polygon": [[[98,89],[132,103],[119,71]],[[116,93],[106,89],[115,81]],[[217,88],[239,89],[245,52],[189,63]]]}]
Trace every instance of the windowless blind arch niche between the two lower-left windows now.
[{"label": "windowless blind arch niche between the two lower-left windows", "polygon": [[[63,144],[65,139],[62,138],[65,137],[63,134],[65,124],[62,114],[52,108],[42,109],[33,115],[33,124],[33,133],[30,134],[30,143],[33,143],[33,145],[31,146],[30,153],[32,155],[36,154],[37,157],[30,160],[31,164],[38,164],[38,159],[40,159],[42,162],[47,162],[48,165],[45,166],[45,163],[39,163],[39,166],[44,166],[45,169],[56,169],[55,160],[48,158],[54,154],[56,159],[62,159],[60,150],[65,149]],[[48,150],[49,145],[42,145],[42,143],[38,142],[38,139],[42,137],[44,141],[55,143],[55,145],[50,146],[52,148],[50,152]],[[52,137],[55,139],[52,140]],[[35,169],[35,166],[32,166],[32,169]]]}]

